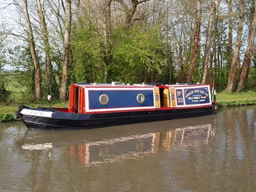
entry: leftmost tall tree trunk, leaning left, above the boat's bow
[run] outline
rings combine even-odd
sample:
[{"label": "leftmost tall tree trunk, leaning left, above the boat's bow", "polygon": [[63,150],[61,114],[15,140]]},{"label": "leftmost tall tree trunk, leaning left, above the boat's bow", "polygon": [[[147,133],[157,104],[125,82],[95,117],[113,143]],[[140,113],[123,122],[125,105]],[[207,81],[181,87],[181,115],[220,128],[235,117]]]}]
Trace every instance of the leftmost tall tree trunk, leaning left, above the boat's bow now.
[{"label": "leftmost tall tree trunk, leaning left, above the boat's bow", "polygon": [[35,65],[36,100],[41,101],[41,83],[42,83],[41,69],[40,69],[40,63],[39,63],[38,57],[36,55],[36,46],[35,46],[35,40],[34,40],[34,36],[33,36],[32,26],[31,26],[29,14],[28,14],[27,0],[22,0],[22,5],[23,5],[24,16],[25,16],[26,23],[27,23],[31,56],[32,56],[33,63]]}]

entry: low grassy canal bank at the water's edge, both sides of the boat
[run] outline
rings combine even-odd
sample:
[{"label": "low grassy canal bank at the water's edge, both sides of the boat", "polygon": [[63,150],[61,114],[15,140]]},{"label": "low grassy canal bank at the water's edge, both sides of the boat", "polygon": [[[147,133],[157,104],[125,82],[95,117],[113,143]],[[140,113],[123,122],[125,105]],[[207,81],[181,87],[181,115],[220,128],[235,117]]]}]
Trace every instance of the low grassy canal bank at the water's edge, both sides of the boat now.
[{"label": "low grassy canal bank at the water's edge, both sides of the boat", "polygon": [[[217,93],[218,107],[243,106],[256,104],[256,92],[247,91],[239,93]],[[28,106],[48,106],[49,104],[33,104]],[[67,107],[67,102],[53,103],[52,107]],[[13,121],[13,112],[18,109],[18,105],[0,105],[0,122]]]}]

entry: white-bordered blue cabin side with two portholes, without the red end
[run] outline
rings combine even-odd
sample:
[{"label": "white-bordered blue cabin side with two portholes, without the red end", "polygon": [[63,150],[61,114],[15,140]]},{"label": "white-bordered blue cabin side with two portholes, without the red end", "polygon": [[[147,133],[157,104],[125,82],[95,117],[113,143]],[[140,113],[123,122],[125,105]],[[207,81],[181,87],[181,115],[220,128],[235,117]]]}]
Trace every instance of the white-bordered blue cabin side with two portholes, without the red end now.
[{"label": "white-bordered blue cabin side with two portholes, without the red end", "polygon": [[160,107],[159,88],[154,86],[87,87],[86,112],[155,109]]}]

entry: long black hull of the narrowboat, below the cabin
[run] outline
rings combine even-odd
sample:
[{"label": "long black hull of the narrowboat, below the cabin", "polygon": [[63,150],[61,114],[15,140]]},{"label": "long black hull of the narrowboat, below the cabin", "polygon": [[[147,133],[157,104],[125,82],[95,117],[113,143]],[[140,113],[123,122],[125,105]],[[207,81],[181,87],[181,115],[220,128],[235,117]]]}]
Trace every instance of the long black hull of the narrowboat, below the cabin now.
[{"label": "long black hull of the narrowboat, below the cabin", "polygon": [[28,128],[47,130],[92,129],[97,127],[199,117],[212,115],[216,112],[216,105],[194,109],[125,111],[102,114],[75,114],[40,107],[38,109],[41,111],[53,112],[52,117],[41,117],[22,115],[20,112],[24,108],[30,109],[26,106],[21,106],[19,107],[18,115]]}]

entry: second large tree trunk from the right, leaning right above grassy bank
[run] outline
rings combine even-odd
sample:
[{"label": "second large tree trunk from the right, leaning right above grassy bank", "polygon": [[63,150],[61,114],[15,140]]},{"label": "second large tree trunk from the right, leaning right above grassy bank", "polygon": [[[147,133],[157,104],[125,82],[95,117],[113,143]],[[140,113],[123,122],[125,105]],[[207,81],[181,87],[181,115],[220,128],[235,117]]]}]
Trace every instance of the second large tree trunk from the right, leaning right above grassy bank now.
[{"label": "second large tree trunk from the right, leaning right above grassy bank", "polygon": [[243,31],[243,23],[244,23],[244,0],[240,0],[239,3],[239,22],[238,22],[238,29],[237,29],[237,41],[235,42],[235,51],[234,51],[234,57],[232,60],[231,68],[229,71],[228,76],[228,85],[226,88],[227,92],[232,92],[234,89],[234,82],[235,82],[235,76],[237,75],[237,65],[239,60],[239,51],[241,47],[241,41],[242,41],[242,31]]}]

